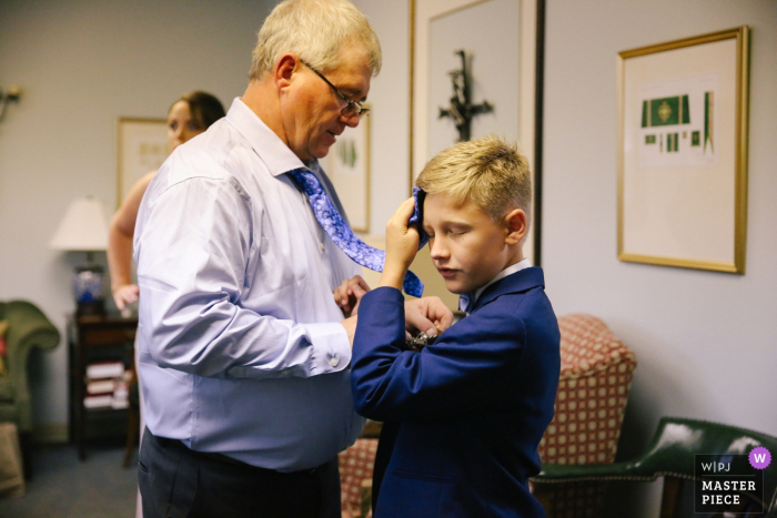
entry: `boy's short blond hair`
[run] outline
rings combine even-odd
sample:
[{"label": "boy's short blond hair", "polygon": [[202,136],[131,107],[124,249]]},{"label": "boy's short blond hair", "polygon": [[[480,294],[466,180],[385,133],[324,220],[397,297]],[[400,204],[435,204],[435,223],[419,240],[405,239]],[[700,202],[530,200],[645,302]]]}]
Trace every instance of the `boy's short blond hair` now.
[{"label": "boy's short blond hair", "polygon": [[437,153],[415,184],[428,194],[445,194],[457,203],[470,200],[498,221],[522,209],[532,214],[532,173],[514,142],[496,135],[460,142]]}]

